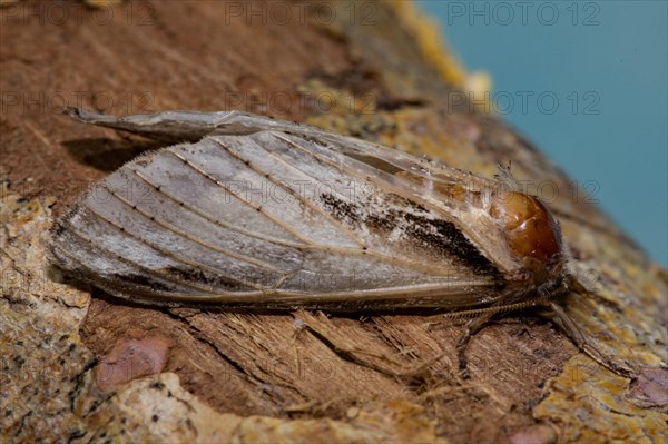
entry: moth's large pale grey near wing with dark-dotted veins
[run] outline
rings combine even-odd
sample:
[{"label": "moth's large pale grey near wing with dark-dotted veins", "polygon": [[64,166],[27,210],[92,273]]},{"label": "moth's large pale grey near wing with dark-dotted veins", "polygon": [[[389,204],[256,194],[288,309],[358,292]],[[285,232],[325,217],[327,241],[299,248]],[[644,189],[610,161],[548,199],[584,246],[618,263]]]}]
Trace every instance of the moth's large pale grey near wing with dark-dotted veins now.
[{"label": "moth's large pale grey near wing with dark-dotted veins", "polygon": [[[360,180],[344,160],[295,149],[289,137],[212,136],[132,160],[58,221],[53,257],[111,294],[143,300],[323,305],[414,296],[416,305],[462,306],[494,297],[493,277],[433,247],[434,236],[448,236],[435,213]],[[366,208],[346,195],[357,184]],[[346,218],[344,204],[362,213]],[[406,236],[415,218],[421,231]]]}]

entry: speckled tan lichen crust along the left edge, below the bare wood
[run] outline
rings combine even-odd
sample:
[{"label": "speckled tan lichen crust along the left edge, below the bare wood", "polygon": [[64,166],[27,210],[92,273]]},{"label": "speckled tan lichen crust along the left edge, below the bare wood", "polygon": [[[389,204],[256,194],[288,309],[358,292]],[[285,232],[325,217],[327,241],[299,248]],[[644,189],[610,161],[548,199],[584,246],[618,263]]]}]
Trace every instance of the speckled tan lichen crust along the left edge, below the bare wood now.
[{"label": "speckled tan lichen crust along the left edge, below the bare wood", "polygon": [[94,362],[78,334],[89,295],[49,276],[48,208],[4,182],[0,198],[0,442],[67,436],[85,426],[73,411]]}]

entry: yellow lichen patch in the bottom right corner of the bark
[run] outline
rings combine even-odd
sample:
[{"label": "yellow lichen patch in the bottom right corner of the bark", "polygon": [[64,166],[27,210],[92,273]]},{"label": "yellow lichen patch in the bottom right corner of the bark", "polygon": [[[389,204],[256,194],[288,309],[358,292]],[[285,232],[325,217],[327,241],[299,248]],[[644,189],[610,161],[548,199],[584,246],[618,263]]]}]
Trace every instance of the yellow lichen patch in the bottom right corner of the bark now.
[{"label": "yellow lichen patch in the bottom right corner of the bark", "polygon": [[537,420],[554,423],[561,442],[666,442],[668,415],[627,401],[628,379],[577,355],[548,382],[550,392],[533,408]]}]

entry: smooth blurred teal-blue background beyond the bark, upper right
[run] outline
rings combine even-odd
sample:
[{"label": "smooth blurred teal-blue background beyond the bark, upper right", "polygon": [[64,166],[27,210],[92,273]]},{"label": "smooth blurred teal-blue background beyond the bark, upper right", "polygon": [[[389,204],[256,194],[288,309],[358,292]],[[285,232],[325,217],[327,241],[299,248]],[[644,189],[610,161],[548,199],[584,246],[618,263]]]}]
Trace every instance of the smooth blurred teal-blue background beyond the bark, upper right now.
[{"label": "smooth blurred teal-blue background beyond the bark, upper right", "polygon": [[500,114],[595,180],[602,209],[666,267],[668,2],[419,3],[469,71],[491,75]]}]

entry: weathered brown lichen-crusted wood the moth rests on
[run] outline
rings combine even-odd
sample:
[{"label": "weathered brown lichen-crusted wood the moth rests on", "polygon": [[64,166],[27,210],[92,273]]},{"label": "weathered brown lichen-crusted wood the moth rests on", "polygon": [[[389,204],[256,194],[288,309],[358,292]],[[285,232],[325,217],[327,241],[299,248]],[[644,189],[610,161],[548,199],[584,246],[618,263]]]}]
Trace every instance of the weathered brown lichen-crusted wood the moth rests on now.
[{"label": "weathered brown lichen-crusted wood the moth rests on", "polygon": [[[308,4],[19,2],[0,10],[2,438],[665,441],[666,272],[573,198],[569,179],[529,142],[462,103],[460,68],[434,50],[433,29],[410,3]],[[461,325],[430,327],[402,313],[153,308],[62,283],[45,259],[52,217],[92,181],[157,148],[72,122],[57,114],[65,105],[114,114],[245,109],[483,176],[512,160],[533,189],[550,180],[560,190],[551,206],[572,266],[598,292],[563,305],[639,377],[611,374],[529,315],[475,336],[472,378],[461,381]],[[346,361],[347,351],[412,375],[361,366]]]}]

